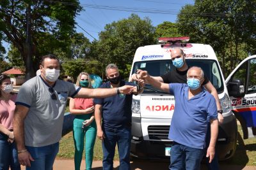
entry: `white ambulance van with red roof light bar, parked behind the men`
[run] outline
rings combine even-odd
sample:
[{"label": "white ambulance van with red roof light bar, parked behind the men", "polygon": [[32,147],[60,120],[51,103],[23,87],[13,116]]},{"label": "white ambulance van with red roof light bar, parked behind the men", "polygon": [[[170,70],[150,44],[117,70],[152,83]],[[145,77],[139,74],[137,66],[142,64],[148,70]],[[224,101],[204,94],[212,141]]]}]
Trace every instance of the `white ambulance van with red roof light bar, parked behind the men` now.
[{"label": "white ambulance van with red roof light bar, parked behind the men", "polygon": [[[182,48],[188,66],[201,67],[218,92],[224,122],[219,126],[216,150],[220,160],[228,159],[236,150],[237,122],[232,112],[225,79],[212,47],[186,43],[188,39],[187,37],[166,38],[162,39],[164,44],[139,47],[134,55],[130,76],[136,73],[137,69],[147,70],[152,76],[161,76],[172,71],[175,67],[172,65],[170,50]],[[234,93],[237,92],[236,89],[242,88],[239,82],[237,84],[233,87]],[[168,139],[168,132],[174,109],[174,97],[150,85],[145,85],[142,94],[133,96],[131,141],[133,157],[170,159],[172,141]]]}]

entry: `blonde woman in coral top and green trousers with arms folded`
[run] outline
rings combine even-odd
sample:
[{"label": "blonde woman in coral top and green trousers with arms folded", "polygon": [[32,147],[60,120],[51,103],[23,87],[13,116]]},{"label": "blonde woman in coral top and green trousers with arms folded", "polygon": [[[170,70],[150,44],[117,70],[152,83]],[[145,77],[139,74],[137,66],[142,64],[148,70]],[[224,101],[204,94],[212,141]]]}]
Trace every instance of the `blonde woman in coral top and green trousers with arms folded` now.
[{"label": "blonde woman in coral top and green trousers with arms folded", "polygon": [[[76,85],[81,88],[92,88],[90,74],[82,72],[77,77]],[[75,144],[75,169],[79,170],[84,149],[86,170],[92,169],[93,147],[96,138],[93,99],[75,98],[69,101],[70,113],[76,115],[73,122],[73,137]]]}]

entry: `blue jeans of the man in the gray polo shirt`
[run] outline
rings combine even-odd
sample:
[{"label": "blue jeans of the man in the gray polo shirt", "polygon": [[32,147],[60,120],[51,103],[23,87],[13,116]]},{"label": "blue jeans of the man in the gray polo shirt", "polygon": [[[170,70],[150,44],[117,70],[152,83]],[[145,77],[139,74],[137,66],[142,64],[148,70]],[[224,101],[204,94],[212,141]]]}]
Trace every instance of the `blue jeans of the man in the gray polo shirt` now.
[{"label": "blue jeans of the man in the gray polo shirt", "polygon": [[35,161],[30,161],[31,167],[26,167],[26,170],[51,170],[54,159],[59,152],[59,143],[52,145],[33,147],[26,146],[31,157]]}]

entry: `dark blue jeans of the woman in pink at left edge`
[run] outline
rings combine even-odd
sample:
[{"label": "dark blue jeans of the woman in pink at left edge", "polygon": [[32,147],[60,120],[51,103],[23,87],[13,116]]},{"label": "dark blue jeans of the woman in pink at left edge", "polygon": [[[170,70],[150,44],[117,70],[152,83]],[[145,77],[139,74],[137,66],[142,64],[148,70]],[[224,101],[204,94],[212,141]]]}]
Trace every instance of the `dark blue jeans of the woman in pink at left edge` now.
[{"label": "dark blue jeans of the woman in pink at left edge", "polygon": [[20,170],[15,142],[9,143],[8,136],[0,133],[0,170]]}]

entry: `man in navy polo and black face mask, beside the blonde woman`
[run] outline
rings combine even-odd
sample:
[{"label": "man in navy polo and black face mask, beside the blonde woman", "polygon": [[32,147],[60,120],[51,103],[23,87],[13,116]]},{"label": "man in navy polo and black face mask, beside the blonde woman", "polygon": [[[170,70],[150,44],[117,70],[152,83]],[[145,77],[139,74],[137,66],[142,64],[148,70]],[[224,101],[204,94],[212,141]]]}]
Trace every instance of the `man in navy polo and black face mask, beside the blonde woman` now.
[{"label": "man in navy polo and black face mask, beside the blonde woman", "polygon": [[[106,67],[106,76],[109,81],[102,84],[100,88],[133,85],[134,90],[137,90],[134,83],[120,79],[120,73],[115,64],[109,64]],[[139,92],[142,92],[142,89]],[[131,148],[132,94],[116,94],[104,99],[94,99],[94,103],[97,136],[102,140],[103,169],[113,169],[116,143],[120,159],[119,169],[131,169],[129,156]]]}]

